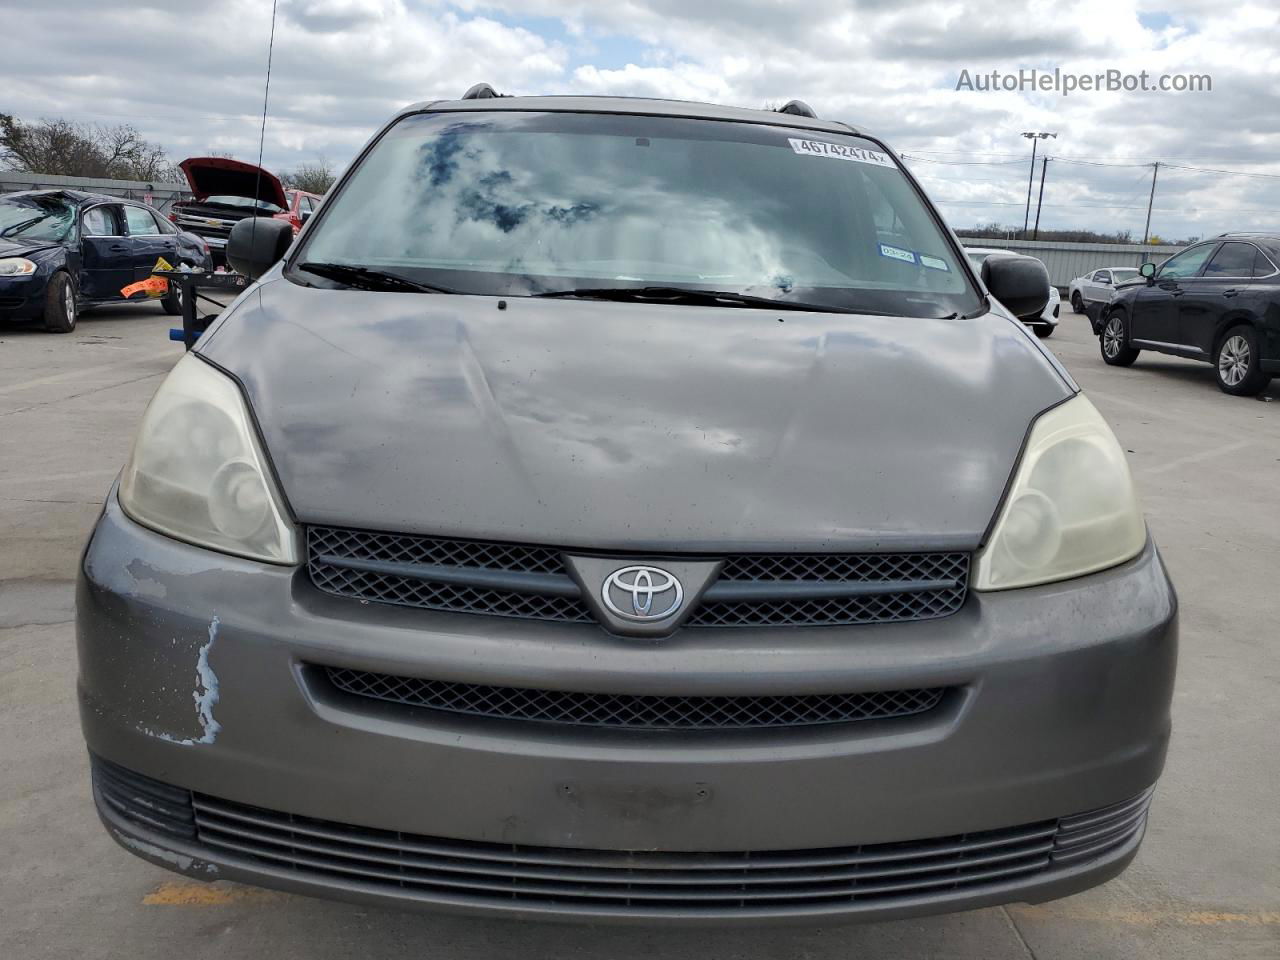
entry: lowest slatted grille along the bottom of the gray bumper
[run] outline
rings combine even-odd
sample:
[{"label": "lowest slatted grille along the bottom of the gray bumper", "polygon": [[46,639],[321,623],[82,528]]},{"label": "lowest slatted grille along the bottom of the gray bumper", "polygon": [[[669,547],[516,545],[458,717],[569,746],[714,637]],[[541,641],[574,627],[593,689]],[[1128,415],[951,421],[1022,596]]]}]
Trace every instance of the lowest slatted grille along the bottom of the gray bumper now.
[{"label": "lowest slatted grille along the bottom of the gray bumper", "polygon": [[[137,777],[95,759],[95,778]],[[138,778],[146,780],[146,778]],[[751,916],[840,905],[919,904],[952,892],[1051,879],[1146,824],[1151,791],[1102,810],[1005,829],[818,850],[658,852],[527,846],[371,829],[152,783],[186,801],[200,855],[317,884],[420,901],[667,916]],[[146,813],[143,810],[143,813]],[[1102,840],[1064,861],[1083,829]]]}]

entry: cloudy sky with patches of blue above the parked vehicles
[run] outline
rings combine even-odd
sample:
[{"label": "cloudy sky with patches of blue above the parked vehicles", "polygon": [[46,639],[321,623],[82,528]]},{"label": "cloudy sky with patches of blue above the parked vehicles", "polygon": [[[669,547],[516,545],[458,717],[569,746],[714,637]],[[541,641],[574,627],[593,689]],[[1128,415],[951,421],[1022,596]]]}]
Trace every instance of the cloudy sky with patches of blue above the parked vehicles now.
[{"label": "cloudy sky with patches of blue above the parked vehicles", "polygon": [[[132,123],[175,159],[256,159],[270,0],[60,0],[58,14],[5,18],[0,110]],[[1140,236],[1160,160],[1152,232],[1206,236],[1280,220],[1277,54],[1274,0],[279,0],[265,165],[340,168],[393,110],[476,81],[800,97],[913,157],[956,228],[1021,225],[1021,133],[1052,131],[1042,227]],[[1021,68],[1208,74],[1212,91],[956,90],[961,70]]]}]

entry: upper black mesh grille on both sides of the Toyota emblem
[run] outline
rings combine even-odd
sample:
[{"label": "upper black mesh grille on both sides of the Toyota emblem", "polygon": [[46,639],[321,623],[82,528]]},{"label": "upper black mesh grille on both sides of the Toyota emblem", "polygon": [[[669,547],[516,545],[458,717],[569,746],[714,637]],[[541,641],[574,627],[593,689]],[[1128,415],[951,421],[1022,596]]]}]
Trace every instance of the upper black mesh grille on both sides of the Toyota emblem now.
[{"label": "upper black mesh grille on both sides of the Toyota emblem", "polygon": [[[635,559],[620,557],[618,563]],[[564,552],[552,547],[312,526],[307,571],[317,588],[338,596],[594,622]],[[685,623],[849,626],[936,620],[964,605],[968,582],[968,553],[732,554]]]}]

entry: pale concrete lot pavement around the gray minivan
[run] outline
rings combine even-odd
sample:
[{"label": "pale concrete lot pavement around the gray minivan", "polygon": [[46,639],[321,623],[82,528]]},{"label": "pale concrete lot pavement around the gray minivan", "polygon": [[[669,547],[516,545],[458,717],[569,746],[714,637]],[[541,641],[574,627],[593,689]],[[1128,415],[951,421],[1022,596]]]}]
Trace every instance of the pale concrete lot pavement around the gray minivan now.
[{"label": "pale concrete lot pavement around the gray minivan", "polygon": [[[88,797],[72,577],[138,416],[182,355],[165,337],[170,323],[143,305],[91,314],[65,337],[0,329],[4,956],[1280,956],[1280,403],[1226,397],[1207,365],[1189,361],[1146,355],[1106,367],[1070,312],[1048,344],[1129,449],[1183,604],[1169,767],[1146,845],[1119,879],[1043,906],[682,932],[357,908],[200,884],[129,856]],[[1280,381],[1267,397],[1280,398]]]}]

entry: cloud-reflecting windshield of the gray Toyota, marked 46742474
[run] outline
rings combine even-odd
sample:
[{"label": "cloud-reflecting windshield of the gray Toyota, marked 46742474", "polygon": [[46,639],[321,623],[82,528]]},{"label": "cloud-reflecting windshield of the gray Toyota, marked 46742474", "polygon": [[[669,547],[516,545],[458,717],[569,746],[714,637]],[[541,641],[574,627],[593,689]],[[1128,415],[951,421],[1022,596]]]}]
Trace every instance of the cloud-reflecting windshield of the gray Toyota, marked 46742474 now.
[{"label": "cloud-reflecting windshield of the gray Toyota, marked 46742474", "polygon": [[901,316],[982,307],[874,143],[751,123],[410,116],[325,202],[303,261],[502,296],[634,284]]}]

